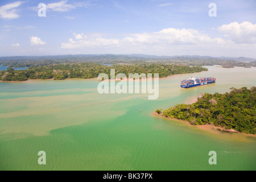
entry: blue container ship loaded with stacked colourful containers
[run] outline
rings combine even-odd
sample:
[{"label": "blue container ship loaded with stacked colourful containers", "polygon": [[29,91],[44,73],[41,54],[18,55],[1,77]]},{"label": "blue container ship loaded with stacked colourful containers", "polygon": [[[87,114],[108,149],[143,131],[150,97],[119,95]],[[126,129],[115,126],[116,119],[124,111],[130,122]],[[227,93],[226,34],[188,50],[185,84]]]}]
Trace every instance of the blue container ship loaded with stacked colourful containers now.
[{"label": "blue container ship loaded with stacked colourful containers", "polygon": [[195,86],[208,85],[216,82],[216,78],[194,78],[183,80],[180,83],[181,88],[191,88]]}]

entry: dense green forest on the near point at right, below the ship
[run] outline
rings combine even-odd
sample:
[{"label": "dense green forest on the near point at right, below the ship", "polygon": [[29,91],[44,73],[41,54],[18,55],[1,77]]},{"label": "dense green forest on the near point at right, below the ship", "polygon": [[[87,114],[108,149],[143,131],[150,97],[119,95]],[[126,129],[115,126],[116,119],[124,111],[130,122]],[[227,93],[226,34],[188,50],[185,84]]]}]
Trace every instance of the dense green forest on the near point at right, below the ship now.
[{"label": "dense green forest on the near point at right, below the ship", "polygon": [[[206,125],[256,134],[256,87],[231,88],[230,93],[205,93],[195,104],[180,104],[163,111],[165,117],[182,119],[191,125]],[[160,110],[157,110],[160,113]]]}]

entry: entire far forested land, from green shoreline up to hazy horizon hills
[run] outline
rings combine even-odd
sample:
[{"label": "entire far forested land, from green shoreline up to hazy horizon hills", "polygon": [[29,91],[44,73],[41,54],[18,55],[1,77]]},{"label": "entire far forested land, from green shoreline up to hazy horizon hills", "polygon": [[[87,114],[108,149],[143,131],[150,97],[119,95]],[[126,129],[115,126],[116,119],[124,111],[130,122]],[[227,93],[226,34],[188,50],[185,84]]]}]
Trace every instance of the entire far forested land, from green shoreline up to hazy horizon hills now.
[{"label": "entire far forested land, from green shoreline up to hazy horizon hills", "polygon": [[[254,59],[246,57],[210,56],[154,56],[154,55],[62,55],[0,57],[0,65],[9,67],[0,71],[1,81],[28,79],[95,78],[100,73],[159,73],[167,77],[183,73],[208,71],[203,66],[221,65],[223,68],[256,67]],[[13,68],[26,67],[24,71]]]}]

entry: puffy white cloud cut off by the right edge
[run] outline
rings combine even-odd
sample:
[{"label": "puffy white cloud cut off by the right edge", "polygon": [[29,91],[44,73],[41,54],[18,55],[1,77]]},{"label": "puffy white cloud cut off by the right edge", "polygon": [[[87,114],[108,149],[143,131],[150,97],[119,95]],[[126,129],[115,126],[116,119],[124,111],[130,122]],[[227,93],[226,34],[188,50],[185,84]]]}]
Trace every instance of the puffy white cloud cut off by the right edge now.
[{"label": "puffy white cloud cut off by the right edge", "polygon": [[218,27],[218,31],[239,44],[256,43],[256,24],[250,22],[224,24]]}]

